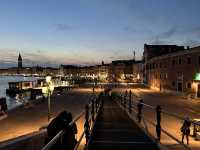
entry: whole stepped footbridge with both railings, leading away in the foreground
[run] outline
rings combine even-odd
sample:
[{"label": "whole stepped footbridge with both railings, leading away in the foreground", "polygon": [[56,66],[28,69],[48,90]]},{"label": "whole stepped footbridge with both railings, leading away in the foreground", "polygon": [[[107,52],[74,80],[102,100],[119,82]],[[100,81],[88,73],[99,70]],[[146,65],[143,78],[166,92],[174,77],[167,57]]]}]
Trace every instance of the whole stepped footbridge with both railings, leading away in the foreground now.
[{"label": "whole stepped footbridge with both railings, leading away in the foreground", "polygon": [[[148,132],[147,123],[142,115],[143,107],[155,111],[156,123],[151,120],[146,121],[155,127],[156,137]],[[69,126],[72,126],[78,120],[84,119],[84,130],[79,134],[74,149],[166,149],[160,143],[161,133],[176,141],[181,146],[180,149],[188,149],[179,139],[162,129],[161,113],[163,112],[160,106],[154,108],[146,105],[142,100],[134,102],[131,91],[123,95],[111,94],[110,91],[100,93],[94,96],[86,105],[85,110],[69,123]],[[48,144],[44,145],[46,130],[42,130],[39,133],[1,143],[0,150],[50,150],[62,139],[65,132],[66,130],[61,130]]]}]

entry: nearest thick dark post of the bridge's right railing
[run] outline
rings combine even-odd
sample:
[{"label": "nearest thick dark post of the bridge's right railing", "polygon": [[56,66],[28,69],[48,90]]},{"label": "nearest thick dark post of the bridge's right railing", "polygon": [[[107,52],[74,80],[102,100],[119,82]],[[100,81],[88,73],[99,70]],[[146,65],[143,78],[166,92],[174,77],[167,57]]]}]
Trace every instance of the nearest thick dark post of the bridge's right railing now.
[{"label": "nearest thick dark post of the bridge's right railing", "polygon": [[158,141],[160,141],[160,138],[161,138],[161,107],[159,105],[156,107],[156,119],[157,119],[156,133],[157,133]]}]

